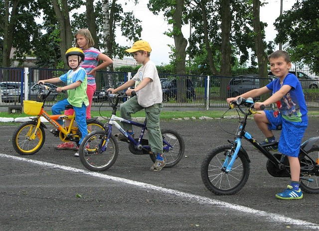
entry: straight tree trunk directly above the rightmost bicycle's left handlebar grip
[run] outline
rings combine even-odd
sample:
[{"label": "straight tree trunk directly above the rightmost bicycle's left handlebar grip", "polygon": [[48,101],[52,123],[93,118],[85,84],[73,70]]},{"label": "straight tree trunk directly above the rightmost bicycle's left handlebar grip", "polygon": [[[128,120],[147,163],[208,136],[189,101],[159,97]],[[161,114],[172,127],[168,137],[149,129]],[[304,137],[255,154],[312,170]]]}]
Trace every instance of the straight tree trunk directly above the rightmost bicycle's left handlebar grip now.
[{"label": "straight tree trunk directly above the rightmost bicycle's left handlebar grip", "polygon": [[[231,46],[230,46],[230,30],[231,30],[231,10],[230,0],[221,1],[221,76],[231,76]],[[220,78],[220,89],[226,89],[228,78]],[[222,99],[227,98],[226,91],[220,91]]]}]

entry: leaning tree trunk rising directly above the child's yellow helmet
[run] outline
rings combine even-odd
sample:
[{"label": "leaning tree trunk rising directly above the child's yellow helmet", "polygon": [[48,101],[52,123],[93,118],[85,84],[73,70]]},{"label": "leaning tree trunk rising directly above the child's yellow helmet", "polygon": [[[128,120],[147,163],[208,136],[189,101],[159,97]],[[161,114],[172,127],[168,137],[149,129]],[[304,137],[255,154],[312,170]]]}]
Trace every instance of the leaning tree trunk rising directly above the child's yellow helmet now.
[{"label": "leaning tree trunk rising directly above the child's yellow helmet", "polygon": [[52,0],[52,2],[53,2],[54,12],[59,23],[58,26],[60,29],[59,37],[61,39],[60,41],[61,57],[62,57],[62,60],[64,61],[64,68],[68,69],[68,66],[66,63],[67,61],[65,59],[65,52],[67,51],[67,49],[72,47],[72,41],[73,41],[68,4],[67,4],[67,0],[61,0],[62,8],[60,8],[60,4],[58,3],[57,0]]}]

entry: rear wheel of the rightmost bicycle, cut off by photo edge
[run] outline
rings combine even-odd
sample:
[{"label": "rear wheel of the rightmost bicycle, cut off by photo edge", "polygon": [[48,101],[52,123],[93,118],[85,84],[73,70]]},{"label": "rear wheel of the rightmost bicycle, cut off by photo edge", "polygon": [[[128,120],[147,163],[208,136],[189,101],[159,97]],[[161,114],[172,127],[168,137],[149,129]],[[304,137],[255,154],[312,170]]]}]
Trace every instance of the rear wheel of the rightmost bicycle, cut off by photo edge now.
[{"label": "rear wheel of the rightmost bicycle, cut off by photo edge", "polygon": [[[310,194],[319,194],[319,171],[318,166],[316,166],[317,158],[319,158],[319,146],[313,146],[312,149],[307,151],[307,154],[310,156],[306,156],[305,154],[299,154],[300,166],[302,168],[309,167],[309,171],[301,170],[300,176],[304,179],[300,180],[300,187],[306,193]],[[305,180],[305,178],[307,180]],[[313,182],[308,179],[312,179]]]}]

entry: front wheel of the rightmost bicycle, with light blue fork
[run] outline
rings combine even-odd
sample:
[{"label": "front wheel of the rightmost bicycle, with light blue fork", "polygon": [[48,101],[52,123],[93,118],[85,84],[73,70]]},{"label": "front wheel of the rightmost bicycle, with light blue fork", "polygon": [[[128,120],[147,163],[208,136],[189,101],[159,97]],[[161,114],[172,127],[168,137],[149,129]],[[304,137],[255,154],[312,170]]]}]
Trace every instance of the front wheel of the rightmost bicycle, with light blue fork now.
[{"label": "front wheel of the rightmost bicycle, with light blue fork", "polygon": [[206,188],[216,195],[233,195],[241,190],[249,177],[249,161],[242,152],[229,173],[222,170],[226,153],[232,145],[219,146],[209,152],[201,164],[201,178]]}]

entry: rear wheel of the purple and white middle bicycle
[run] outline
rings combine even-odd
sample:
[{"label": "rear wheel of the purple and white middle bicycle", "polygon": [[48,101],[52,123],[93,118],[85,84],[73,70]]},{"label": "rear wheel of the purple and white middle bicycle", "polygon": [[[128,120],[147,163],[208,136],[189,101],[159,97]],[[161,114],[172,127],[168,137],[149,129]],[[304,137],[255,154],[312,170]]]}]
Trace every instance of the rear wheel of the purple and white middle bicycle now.
[{"label": "rear wheel of the purple and white middle bicycle", "polygon": [[[171,168],[175,166],[183,157],[185,151],[185,143],[183,137],[175,130],[170,128],[163,128],[160,130],[163,140],[168,142],[172,146],[169,151],[163,149],[163,160],[165,162],[165,168]],[[166,143],[163,141],[163,147]],[[156,155],[150,154],[152,161],[155,163]]]}]

